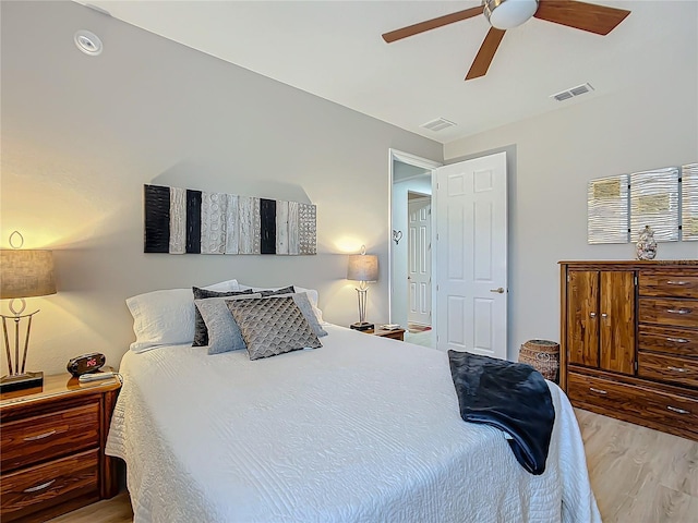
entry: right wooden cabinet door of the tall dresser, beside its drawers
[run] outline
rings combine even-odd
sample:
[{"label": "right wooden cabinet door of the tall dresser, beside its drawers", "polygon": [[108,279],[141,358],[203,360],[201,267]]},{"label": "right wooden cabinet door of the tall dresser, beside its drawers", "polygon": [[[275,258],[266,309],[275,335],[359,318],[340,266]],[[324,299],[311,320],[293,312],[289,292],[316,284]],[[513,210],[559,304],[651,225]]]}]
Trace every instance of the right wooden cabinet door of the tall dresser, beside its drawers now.
[{"label": "right wooden cabinet door of the tall dresser, beside its drawers", "polygon": [[635,374],[635,272],[601,272],[601,368]]}]

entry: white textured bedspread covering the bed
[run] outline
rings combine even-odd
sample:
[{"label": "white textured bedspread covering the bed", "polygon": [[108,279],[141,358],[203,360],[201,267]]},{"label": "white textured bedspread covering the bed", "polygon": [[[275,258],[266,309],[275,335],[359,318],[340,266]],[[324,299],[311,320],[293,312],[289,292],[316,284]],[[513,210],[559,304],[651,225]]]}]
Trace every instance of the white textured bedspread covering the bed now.
[{"label": "white textured bedspread covering the bed", "polygon": [[167,346],[122,360],[107,453],[137,522],[595,522],[579,428],[550,384],[541,476],[459,415],[447,354],[327,326],[251,362]]}]

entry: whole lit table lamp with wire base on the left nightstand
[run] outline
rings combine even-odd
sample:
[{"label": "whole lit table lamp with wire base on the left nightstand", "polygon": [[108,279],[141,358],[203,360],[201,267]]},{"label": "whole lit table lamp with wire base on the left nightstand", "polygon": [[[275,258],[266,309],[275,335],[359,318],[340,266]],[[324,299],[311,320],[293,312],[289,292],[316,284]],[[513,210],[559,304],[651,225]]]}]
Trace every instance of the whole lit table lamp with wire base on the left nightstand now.
[{"label": "whole lit table lamp with wire base on the left nightstand", "polygon": [[[15,243],[19,244],[15,246]],[[39,311],[24,313],[26,297],[46,296],[56,294],[56,279],[53,278],[53,253],[51,251],[34,251],[21,248],[24,238],[14,231],[10,235],[10,245],[13,248],[0,251],[0,300],[11,300],[9,304],[12,316],[2,317],[2,333],[4,336],[5,356],[8,360],[9,375],[0,378],[0,392],[10,390],[40,387],[44,381],[44,373],[26,370],[26,355],[29,349],[29,333],[32,319]],[[16,305],[16,301],[20,305]],[[17,308],[19,307],[19,308]],[[26,318],[26,333],[24,335],[24,349],[20,362],[20,323]],[[10,349],[8,332],[8,319],[14,321],[14,360]]]}]

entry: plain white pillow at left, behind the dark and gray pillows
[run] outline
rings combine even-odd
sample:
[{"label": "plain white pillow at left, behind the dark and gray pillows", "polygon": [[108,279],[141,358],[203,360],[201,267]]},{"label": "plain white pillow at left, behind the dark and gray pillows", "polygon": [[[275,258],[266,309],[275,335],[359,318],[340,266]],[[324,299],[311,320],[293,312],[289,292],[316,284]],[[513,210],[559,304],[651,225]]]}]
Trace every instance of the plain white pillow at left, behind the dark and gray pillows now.
[{"label": "plain white pillow at left, behind the dark and gray pillows", "polygon": [[[238,280],[227,280],[204,289],[238,291],[240,285]],[[194,341],[194,294],[191,288],[139,294],[127,299],[127,306],[133,316],[133,352]]]}]

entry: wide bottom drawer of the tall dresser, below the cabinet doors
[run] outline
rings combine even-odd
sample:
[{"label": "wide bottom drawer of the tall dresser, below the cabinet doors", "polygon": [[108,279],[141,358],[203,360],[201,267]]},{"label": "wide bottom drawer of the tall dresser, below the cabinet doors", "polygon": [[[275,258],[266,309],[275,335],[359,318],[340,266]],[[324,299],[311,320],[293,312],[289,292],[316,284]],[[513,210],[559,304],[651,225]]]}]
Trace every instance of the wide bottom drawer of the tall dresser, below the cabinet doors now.
[{"label": "wide bottom drawer of the tall dresser, below the cabinet doors", "polygon": [[576,406],[592,405],[613,417],[698,436],[698,399],[577,373],[568,375],[567,394]]}]

